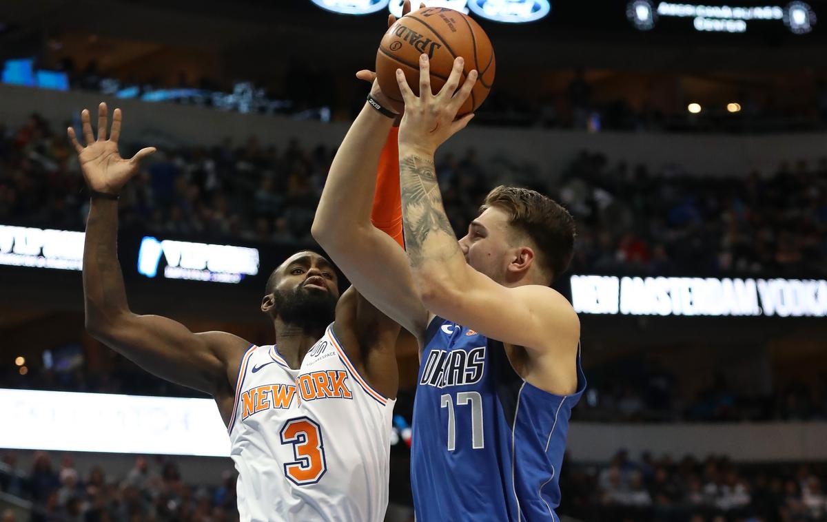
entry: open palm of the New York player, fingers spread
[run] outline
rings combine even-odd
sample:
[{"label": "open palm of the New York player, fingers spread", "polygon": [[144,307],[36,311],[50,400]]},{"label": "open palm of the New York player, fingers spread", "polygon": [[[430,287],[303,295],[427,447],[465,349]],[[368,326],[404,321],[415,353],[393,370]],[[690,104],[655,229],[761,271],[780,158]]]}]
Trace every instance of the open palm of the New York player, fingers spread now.
[{"label": "open palm of the New York player, fingers spread", "polygon": [[106,103],[98,106],[98,139],[92,133],[92,123],[88,109],[80,113],[83,123],[84,140],[82,147],[74,135],[74,129],[69,127],[69,140],[78,151],[80,168],[89,188],[98,192],[117,194],[121,187],[135,175],[141,159],[155,152],[155,147],[141,149],[131,159],[123,159],[117,151],[117,140],[121,135],[121,109],[115,109],[112,114],[112,132],[107,140],[108,110]]}]

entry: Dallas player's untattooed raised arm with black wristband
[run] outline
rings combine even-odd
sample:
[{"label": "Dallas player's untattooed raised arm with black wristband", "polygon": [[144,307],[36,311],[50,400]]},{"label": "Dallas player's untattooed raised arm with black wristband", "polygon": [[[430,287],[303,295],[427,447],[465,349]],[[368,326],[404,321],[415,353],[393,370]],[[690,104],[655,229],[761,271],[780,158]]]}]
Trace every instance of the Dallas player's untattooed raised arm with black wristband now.
[{"label": "Dallas player's untattooed raised arm with black wristband", "polygon": [[[405,4],[407,11],[409,2]],[[370,79],[372,74],[361,71],[359,77]],[[370,219],[380,154],[394,121],[390,112],[399,112],[402,106],[385,97],[375,81],[370,96],[373,102],[362,107],[333,159],[313,221],[313,238],[363,297],[422,338],[428,312],[414,290],[408,259]],[[393,142],[389,146],[395,149]],[[380,178],[380,186],[382,179],[399,175],[397,165],[389,167],[380,172],[385,177]]]}]

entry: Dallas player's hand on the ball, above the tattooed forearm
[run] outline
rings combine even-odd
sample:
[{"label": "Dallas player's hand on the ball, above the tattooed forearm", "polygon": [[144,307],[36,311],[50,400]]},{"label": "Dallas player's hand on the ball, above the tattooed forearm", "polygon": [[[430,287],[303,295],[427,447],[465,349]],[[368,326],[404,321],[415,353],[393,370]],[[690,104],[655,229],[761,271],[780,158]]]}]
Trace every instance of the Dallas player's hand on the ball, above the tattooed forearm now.
[{"label": "Dallas player's hand on the ball, above the tattooed forearm", "polygon": [[403,146],[417,149],[422,154],[437,151],[448,138],[468,125],[473,113],[457,120],[457,112],[471,96],[471,89],[476,83],[476,69],[468,73],[462,87],[459,87],[465,60],[454,59],[454,67],[447,82],[439,93],[431,93],[431,71],[428,55],[419,57],[419,96],[414,94],[405,79],[402,69],[396,69],[396,82],[405,102],[405,114],[399,126],[399,149]]}]

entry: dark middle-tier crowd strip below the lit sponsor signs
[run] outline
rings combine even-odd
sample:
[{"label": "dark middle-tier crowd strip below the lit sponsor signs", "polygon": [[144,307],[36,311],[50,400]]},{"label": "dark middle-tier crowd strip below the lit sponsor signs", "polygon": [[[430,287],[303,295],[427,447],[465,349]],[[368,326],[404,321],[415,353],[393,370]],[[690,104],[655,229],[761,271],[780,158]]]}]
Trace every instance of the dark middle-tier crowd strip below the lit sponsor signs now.
[{"label": "dark middle-tier crowd strip below the lit sponsor signs", "polygon": [[[60,354],[63,352],[63,354]],[[49,350],[50,367],[31,363],[26,375],[17,367],[0,365],[0,387],[50,391],[81,391],[145,396],[206,397],[188,387],[147,373],[110,350],[111,369],[89,368],[80,344]],[[59,355],[60,354],[60,355]],[[614,372],[591,368],[586,394],[572,410],[572,419],[596,422],[761,422],[769,420],[827,420],[827,373],[813,382],[780,381],[767,391],[734,386],[716,372],[675,375],[657,364],[634,363],[633,358],[611,363]],[[737,372],[739,367],[727,368]],[[699,384],[699,382],[704,382]],[[411,398],[398,401],[395,412],[410,420],[413,389],[399,391]]]}]

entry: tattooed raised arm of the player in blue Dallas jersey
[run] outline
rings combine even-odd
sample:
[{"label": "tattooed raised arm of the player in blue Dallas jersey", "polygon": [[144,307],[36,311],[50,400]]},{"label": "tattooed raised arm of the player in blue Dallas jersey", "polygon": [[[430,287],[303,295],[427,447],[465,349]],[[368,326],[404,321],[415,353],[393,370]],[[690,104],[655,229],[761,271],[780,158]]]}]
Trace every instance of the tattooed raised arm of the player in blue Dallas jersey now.
[{"label": "tattooed raised arm of the player in blue Dallas jersey", "polygon": [[[533,271],[537,273],[535,284],[509,287],[509,281],[494,281],[472,268],[463,251],[467,245],[457,243],[445,214],[433,154],[473,117],[469,114],[455,119],[477,78],[476,70],[472,70],[457,90],[463,70],[461,60],[457,58],[445,86],[437,94],[431,93],[428,55],[419,60],[420,96],[411,91],[401,70],[396,75],[405,101],[405,115],[399,127],[405,247],[419,296],[433,314],[492,339],[523,346],[529,353],[545,351],[549,346],[576,346],[580,335],[576,314],[564,297],[544,286],[547,282],[542,274]],[[490,225],[504,227],[507,220],[491,221]],[[493,231],[476,223],[470,235],[487,233]],[[538,262],[531,248],[514,248],[513,254],[509,271],[514,276],[528,273],[532,264]],[[480,264],[485,264],[485,260]],[[519,279],[522,278],[514,277],[515,281]],[[550,343],[549,331],[566,339],[566,343]]]}]

